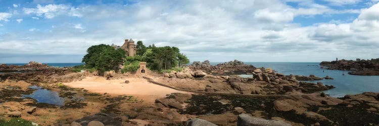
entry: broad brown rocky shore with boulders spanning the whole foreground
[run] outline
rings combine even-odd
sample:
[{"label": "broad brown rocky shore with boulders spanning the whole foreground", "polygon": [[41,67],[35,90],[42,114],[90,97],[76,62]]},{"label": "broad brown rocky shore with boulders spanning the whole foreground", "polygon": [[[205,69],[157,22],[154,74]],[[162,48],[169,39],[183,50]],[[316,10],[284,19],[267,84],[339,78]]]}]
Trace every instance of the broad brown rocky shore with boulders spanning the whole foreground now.
[{"label": "broad brown rocky shore with boulders spanning the whole foreground", "polygon": [[[39,125],[379,124],[379,93],[334,98],[322,93],[334,86],[303,82],[322,78],[283,75],[236,60],[218,67],[192,67],[149,78],[167,87],[199,93],[172,93],[153,101],[64,85],[64,82],[98,77],[109,81],[122,79],[119,85],[124,86],[134,78],[127,74],[108,72],[110,74],[99,77],[96,72],[74,73],[70,68],[0,74],[0,118],[22,117]],[[253,76],[235,76],[238,72]],[[39,103],[36,99],[23,97],[36,91],[30,86],[58,93],[65,99],[64,105]]]}]

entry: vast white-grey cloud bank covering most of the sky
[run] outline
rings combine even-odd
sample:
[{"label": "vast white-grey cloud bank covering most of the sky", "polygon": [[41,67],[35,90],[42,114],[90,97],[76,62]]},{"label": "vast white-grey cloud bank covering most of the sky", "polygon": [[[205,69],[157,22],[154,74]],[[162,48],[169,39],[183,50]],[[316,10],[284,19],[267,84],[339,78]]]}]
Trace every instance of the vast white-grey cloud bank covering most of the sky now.
[{"label": "vast white-grey cloud bank covering most of the sky", "polygon": [[[94,44],[121,45],[124,38],[133,38],[147,45],[179,47],[191,60],[320,61],[379,54],[377,5],[362,10],[334,10],[314,3],[293,8],[273,0],[61,6],[65,8],[46,5],[24,12],[44,18],[75,16],[81,17],[80,21],[64,17],[67,20],[49,24],[49,32],[29,32],[29,36],[22,32],[0,34],[4,39],[0,53],[84,54]],[[297,16],[344,13],[359,13],[359,17],[306,27],[292,22]],[[17,48],[5,48],[10,44]]]}]

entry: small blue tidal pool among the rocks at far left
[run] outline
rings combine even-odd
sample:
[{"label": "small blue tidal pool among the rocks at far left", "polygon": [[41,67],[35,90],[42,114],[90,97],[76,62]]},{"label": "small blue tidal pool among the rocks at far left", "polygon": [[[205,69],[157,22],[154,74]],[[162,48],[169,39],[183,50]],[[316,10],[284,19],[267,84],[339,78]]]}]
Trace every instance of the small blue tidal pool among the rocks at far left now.
[{"label": "small blue tidal pool among the rocks at far left", "polygon": [[63,106],[65,104],[65,98],[59,97],[58,92],[44,89],[39,86],[30,86],[31,89],[36,89],[30,95],[23,95],[23,97],[31,97],[36,99],[38,103],[48,103],[57,106]]}]

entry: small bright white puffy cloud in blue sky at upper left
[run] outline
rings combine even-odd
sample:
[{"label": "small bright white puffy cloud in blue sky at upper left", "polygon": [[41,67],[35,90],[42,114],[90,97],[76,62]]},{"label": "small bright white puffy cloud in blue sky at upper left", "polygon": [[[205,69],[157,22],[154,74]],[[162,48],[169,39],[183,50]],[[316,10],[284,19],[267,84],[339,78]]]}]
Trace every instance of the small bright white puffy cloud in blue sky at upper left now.
[{"label": "small bright white puffy cloud in blue sky at upper left", "polygon": [[36,14],[36,16],[44,16],[46,19],[52,19],[59,15],[68,15],[73,17],[80,17],[81,15],[75,12],[74,8],[68,5],[55,5],[49,4],[45,6],[37,5],[36,8],[23,8],[25,14]]}]

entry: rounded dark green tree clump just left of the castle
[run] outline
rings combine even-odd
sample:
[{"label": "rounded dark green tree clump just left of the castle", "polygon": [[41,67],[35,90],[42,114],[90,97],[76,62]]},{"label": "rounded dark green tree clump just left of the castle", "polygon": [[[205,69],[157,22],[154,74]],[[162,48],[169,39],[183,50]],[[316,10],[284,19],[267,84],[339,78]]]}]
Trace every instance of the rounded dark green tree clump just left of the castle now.
[{"label": "rounded dark green tree clump just left of the castle", "polygon": [[89,68],[96,68],[101,71],[117,70],[122,65],[125,58],[125,51],[121,48],[115,49],[112,46],[100,44],[93,45],[87,49],[82,62]]}]

